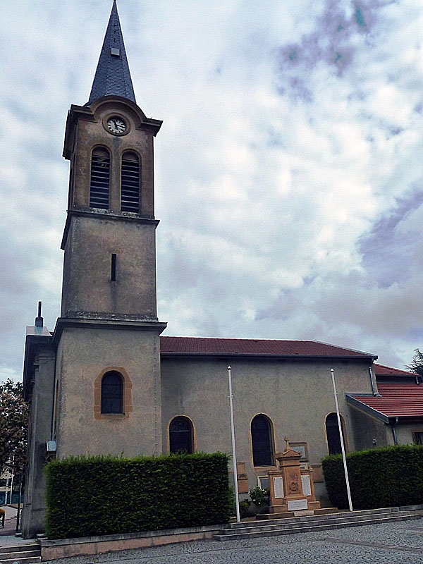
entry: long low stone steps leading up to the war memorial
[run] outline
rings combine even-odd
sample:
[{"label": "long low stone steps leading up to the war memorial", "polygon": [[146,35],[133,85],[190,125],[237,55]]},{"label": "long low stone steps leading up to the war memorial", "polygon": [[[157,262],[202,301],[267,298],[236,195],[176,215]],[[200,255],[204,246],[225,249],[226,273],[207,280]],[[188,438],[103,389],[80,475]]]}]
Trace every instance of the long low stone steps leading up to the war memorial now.
[{"label": "long low stone steps leading up to the war memorial", "polygon": [[354,511],[353,513],[330,513],[291,517],[266,521],[231,523],[222,528],[214,539],[219,541],[272,537],[278,534],[324,531],[343,527],[360,527],[393,521],[419,519],[423,517],[423,505],[410,508],[384,508],[376,510]]}]

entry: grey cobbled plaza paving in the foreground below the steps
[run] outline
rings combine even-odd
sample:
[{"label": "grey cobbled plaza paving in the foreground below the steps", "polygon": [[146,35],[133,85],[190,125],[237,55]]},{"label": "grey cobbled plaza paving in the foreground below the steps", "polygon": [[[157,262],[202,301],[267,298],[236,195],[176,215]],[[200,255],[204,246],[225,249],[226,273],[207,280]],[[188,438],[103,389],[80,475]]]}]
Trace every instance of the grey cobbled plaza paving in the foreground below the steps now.
[{"label": "grey cobbled plaza paving in the foreground below the steps", "polygon": [[245,541],[197,541],[60,564],[423,564],[423,519]]}]

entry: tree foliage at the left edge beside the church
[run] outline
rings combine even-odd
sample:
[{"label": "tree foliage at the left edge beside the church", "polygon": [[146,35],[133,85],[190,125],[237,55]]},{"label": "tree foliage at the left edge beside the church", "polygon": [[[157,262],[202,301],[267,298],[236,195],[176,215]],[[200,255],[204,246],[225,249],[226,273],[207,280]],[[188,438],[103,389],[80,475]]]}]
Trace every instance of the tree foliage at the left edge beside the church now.
[{"label": "tree foliage at the left edge beside the church", "polygon": [[0,472],[14,459],[14,473],[22,474],[27,448],[28,405],[22,383],[0,383]]}]

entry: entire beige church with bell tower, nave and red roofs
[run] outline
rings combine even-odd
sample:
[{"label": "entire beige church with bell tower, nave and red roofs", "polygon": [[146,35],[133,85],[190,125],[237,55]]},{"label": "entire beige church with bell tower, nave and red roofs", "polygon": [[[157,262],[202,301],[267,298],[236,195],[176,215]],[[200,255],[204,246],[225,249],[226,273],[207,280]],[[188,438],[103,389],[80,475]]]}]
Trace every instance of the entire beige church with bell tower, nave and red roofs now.
[{"label": "entire beige church with bell tower, nave and red roofs", "polygon": [[317,498],[329,503],[321,458],[341,450],[331,369],[347,451],[423,440],[420,377],[381,367],[376,355],[319,341],[162,334],[154,216],[160,128],[135,101],[114,0],[90,97],[72,105],[66,121],[61,314],[49,331],[39,307],[27,327],[25,538],[44,530],[43,467],[52,458],[231,453],[228,366],[241,494],[268,486],[288,437],[302,467],[313,470]]}]

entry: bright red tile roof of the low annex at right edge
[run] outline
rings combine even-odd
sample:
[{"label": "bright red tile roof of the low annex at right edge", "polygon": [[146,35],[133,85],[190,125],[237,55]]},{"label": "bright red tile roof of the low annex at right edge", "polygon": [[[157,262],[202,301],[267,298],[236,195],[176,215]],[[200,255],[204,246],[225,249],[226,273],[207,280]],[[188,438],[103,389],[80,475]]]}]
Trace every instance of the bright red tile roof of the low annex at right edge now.
[{"label": "bright red tile roof of the low annex at right edge", "polygon": [[379,383],[377,387],[380,397],[350,397],[386,417],[423,417],[423,384]]}]

